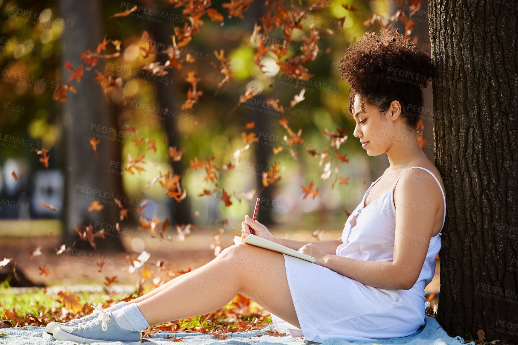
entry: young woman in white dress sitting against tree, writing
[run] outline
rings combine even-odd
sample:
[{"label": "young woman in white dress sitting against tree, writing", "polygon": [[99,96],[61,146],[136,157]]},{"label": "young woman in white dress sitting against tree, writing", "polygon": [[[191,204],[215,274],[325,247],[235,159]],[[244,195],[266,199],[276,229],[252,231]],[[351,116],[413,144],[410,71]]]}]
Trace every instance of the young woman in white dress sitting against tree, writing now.
[{"label": "young woman in white dress sitting against tree, writing", "polygon": [[[424,288],[435,272],[445,220],[441,176],[416,140],[421,88],[431,59],[398,32],[366,33],[340,61],[351,85],[354,136],[369,156],[386,153],[390,167],[366,191],[340,238],[277,238],[248,216],[257,236],[316,258],[233,245],[192,272],[128,303],[47,331],[57,340],[140,344],[149,325],[217,310],[237,293],[272,313],[279,332],[324,342],[405,337],[424,325]],[[421,108],[420,108],[421,107]]]}]

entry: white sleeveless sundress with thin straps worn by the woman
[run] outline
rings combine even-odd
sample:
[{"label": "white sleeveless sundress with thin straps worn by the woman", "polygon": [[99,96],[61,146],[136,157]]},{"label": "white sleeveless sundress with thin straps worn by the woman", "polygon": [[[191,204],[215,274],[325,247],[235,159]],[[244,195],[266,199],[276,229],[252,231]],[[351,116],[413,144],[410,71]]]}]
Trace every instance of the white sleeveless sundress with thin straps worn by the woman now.
[{"label": "white sleeveless sundress with thin straps worn by the woman", "polygon": [[[444,227],[446,199],[437,177],[422,167],[409,168],[401,176],[414,168],[426,170],[439,184],[444,198]],[[347,219],[341,238],[343,243],[336,248],[337,256],[392,261],[396,224],[394,188],[399,178],[391,190],[363,207],[370,189],[380,178],[370,185],[361,203]],[[356,224],[351,229],[354,217]],[[286,272],[290,272],[286,277],[301,328],[272,314],[275,329],[315,342],[335,337],[347,341],[384,340],[415,333],[425,324],[424,288],[434,277],[441,232],[430,239],[419,278],[409,290],[374,288],[327,267],[283,254]]]}]

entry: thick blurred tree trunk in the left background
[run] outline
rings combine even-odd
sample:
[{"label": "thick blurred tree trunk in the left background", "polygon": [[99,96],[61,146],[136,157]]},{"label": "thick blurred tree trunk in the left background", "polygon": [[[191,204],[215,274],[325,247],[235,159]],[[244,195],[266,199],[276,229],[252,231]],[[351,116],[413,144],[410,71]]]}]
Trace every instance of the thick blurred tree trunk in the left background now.
[{"label": "thick blurred tree trunk in the left background", "polygon": [[[63,31],[63,62],[70,62],[74,68],[83,64],[81,52],[90,49],[95,51],[97,44],[103,40],[102,23],[100,20],[100,6],[98,0],[88,2],[76,0],[60,0],[61,16],[74,22],[74,27],[67,27]],[[98,62],[100,63],[100,62]],[[94,67],[95,68],[95,67]],[[94,71],[85,71],[82,80],[66,81],[70,71],[63,70],[64,83],[73,84],[77,95],[69,93],[63,106],[63,119],[66,142],[66,224],[64,242],[69,246],[78,234],[77,227],[92,224],[94,232],[110,227],[118,221],[118,207],[113,199],[121,198],[121,176],[108,172],[110,162],[120,162],[119,143],[114,140],[111,131],[116,128],[108,100],[100,85],[94,81]],[[111,130],[111,131],[110,131]],[[100,136],[100,137],[97,137]],[[106,136],[103,138],[102,136]],[[90,138],[100,140],[97,145],[97,155],[90,145]],[[125,198],[131,199],[131,198]],[[98,200],[104,206],[101,211],[88,211],[92,201]],[[125,207],[135,207],[122,200]],[[123,250],[120,239],[115,236],[96,238],[97,249]],[[85,241],[79,241],[76,248],[93,248]]]}]

